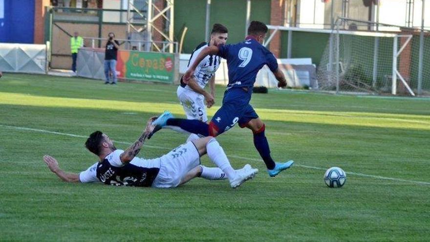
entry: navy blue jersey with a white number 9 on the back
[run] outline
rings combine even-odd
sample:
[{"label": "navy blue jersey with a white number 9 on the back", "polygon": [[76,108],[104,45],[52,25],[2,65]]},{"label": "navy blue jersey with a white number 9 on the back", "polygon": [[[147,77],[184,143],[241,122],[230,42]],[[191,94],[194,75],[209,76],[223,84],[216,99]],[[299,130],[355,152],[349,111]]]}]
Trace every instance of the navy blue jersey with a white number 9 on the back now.
[{"label": "navy blue jersey with a white number 9 on the back", "polygon": [[278,69],[275,56],[253,38],[237,44],[218,45],[218,55],[227,60],[229,84],[227,89],[236,87],[252,88],[258,71],[269,66],[271,71]]}]

